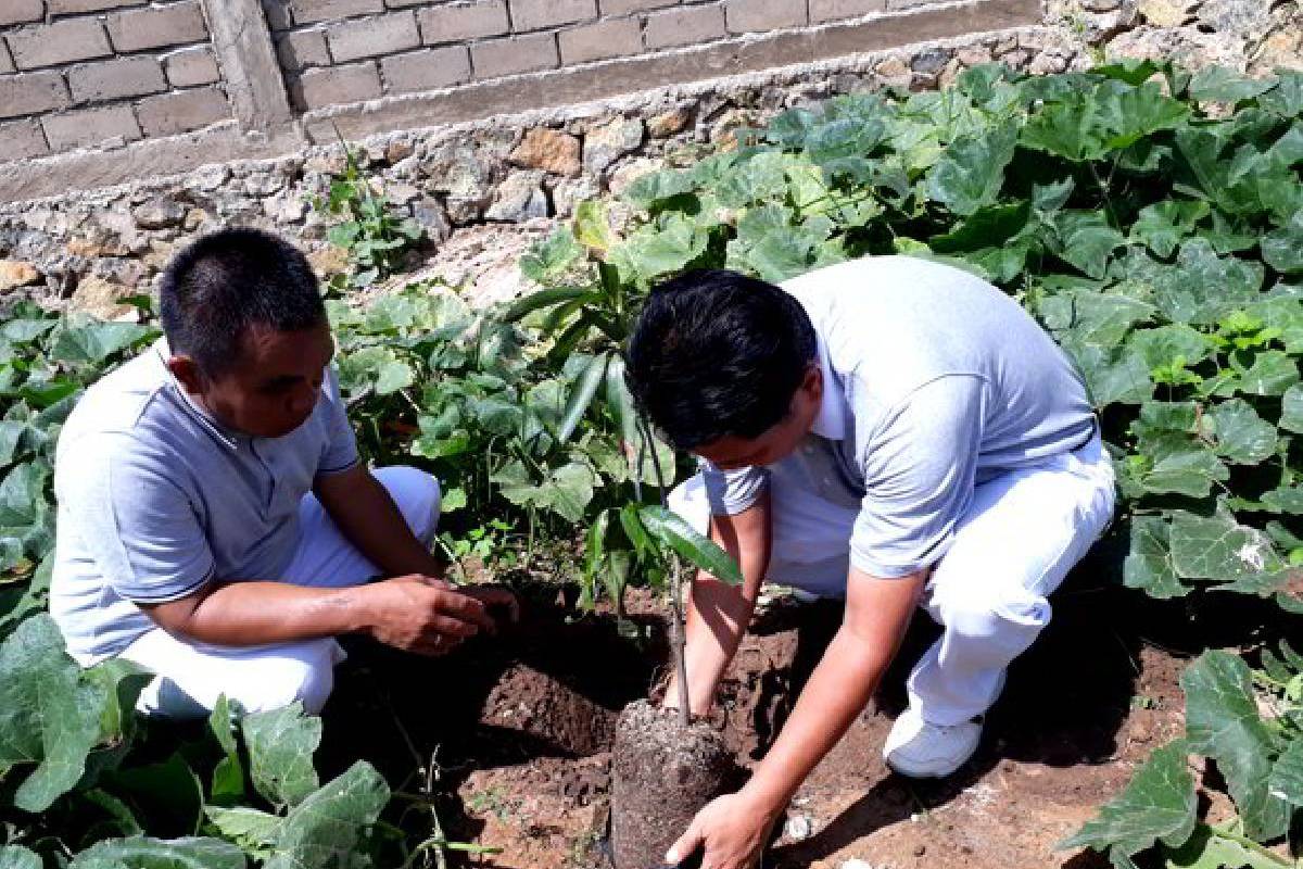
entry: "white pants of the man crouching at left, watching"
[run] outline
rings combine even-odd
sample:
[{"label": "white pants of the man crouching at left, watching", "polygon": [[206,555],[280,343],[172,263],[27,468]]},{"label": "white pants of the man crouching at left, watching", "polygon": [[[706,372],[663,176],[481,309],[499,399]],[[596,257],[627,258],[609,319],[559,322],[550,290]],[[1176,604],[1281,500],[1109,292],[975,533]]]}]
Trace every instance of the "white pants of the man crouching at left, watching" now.
[{"label": "white pants of the man crouching at left, watching", "polygon": [[[414,468],[380,468],[377,479],[397,503],[423,542],[439,520],[439,482]],[[382,571],[349,543],[315,495],[298,508],[300,539],[281,582],[317,588],[361,585]],[[138,709],[168,718],[202,718],[223,694],[245,711],[266,711],[298,701],[321,711],[335,685],[344,650],[331,637],[265,646],[214,646],[180,640],[162,628],[142,634],[121,657],[158,676],[146,685]]]}]

